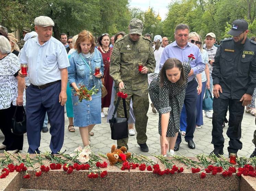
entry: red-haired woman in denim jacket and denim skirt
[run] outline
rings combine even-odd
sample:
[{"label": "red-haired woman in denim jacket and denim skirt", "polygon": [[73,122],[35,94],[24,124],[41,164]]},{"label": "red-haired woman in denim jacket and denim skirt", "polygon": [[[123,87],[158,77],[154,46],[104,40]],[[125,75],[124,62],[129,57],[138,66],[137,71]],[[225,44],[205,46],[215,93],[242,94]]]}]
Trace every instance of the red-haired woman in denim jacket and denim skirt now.
[{"label": "red-haired woman in denim jacket and denim skirt", "polygon": [[[92,95],[92,100],[83,100],[78,103],[78,96],[72,93],[74,126],[79,127],[83,145],[90,145],[89,132],[95,124],[101,123],[101,78],[104,72],[103,59],[100,51],[95,48],[94,38],[89,31],[82,31],[75,42],[76,51],[69,58],[68,67],[69,84],[77,90],[79,84],[85,85],[89,90],[93,86],[99,91]],[[100,67],[100,74],[95,74],[95,67]],[[78,104],[76,104],[78,103]]]}]

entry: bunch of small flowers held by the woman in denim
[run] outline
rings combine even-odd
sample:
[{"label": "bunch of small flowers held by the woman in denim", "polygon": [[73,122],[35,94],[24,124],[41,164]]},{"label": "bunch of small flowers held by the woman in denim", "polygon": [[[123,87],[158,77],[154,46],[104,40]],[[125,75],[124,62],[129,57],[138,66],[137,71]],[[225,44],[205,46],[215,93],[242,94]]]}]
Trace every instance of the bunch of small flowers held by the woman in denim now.
[{"label": "bunch of small flowers held by the woman in denim", "polygon": [[78,96],[79,102],[82,102],[83,99],[91,101],[92,95],[96,94],[96,92],[98,92],[98,89],[95,86],[91,90],[88,90],[85,85],[79,84],[79,88],[74,90],[74,95]]}]

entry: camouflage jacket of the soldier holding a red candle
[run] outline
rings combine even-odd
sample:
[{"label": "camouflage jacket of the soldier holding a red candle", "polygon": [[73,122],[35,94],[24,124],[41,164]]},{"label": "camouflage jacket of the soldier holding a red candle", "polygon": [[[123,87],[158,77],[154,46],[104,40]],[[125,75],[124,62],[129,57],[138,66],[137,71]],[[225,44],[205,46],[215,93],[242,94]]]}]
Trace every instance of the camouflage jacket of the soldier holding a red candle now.
[{"label": "camouflage jacket of the soldier holding a red candle", "polygon": [[148,88],[148,75],[139,72],[138,63],[148,68],[148,73],[154,72],[155,57],[150,40],[140,37],[132,41],[129,34],[118,39],[110,56],[109,74],[116,82],[124,82],[127,90]]}]

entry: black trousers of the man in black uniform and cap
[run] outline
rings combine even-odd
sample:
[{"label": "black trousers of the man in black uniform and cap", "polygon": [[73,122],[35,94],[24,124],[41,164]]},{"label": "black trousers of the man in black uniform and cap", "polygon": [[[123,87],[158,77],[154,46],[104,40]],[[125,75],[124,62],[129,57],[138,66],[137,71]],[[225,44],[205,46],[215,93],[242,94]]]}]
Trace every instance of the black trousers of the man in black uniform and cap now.
[{"label": "black trousers of the man in black uniform and cap", "polygon": [[226,135],[229,137],[229,152],[237,153],[242,149],[241,123],[244,114],[244,107],[239,99],[221,99],[213,98],[213,115],[212,115],[212,141],[214,148],[223,149],[224,137],[222,124],[229,108],[229,127]]}]

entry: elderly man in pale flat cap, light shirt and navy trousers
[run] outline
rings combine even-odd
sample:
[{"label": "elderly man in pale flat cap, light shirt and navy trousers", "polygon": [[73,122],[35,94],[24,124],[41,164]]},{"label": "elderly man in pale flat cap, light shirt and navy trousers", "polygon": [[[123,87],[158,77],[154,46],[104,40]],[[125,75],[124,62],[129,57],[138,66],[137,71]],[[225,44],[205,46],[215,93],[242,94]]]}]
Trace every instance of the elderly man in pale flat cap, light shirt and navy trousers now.
[{"label": "elderly man in pale flat cap, light shirt and navy trousers", "polygon": [[[26,90],[28,152],[40,152],[40,131],[47,111],[51,126],[50,149],[55,154],[60,151],[64,139],[69,61],[65,47],[52,37],[53,20],[39,16],[34,24],[38,36],[24,44],[20,56],[20,63],[27,65],[30,72],[30,86]],[[19,71],[19,76],[27,75]]]}]

